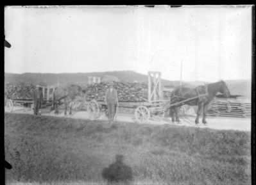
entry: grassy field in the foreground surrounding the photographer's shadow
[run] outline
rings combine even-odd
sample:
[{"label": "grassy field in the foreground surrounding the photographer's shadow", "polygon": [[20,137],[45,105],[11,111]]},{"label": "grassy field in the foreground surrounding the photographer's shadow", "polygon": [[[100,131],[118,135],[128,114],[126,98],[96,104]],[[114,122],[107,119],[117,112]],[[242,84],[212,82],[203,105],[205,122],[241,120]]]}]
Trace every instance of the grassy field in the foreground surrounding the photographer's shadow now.
[{"label": "grassy field in the foreground surrounding the photographer's shadow", "polygon": [[5,113],[6,184],[106,184],[124,155],[133,184],[251,184],[250,132]]}]

